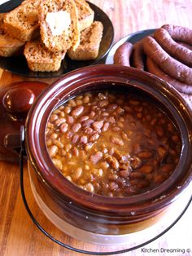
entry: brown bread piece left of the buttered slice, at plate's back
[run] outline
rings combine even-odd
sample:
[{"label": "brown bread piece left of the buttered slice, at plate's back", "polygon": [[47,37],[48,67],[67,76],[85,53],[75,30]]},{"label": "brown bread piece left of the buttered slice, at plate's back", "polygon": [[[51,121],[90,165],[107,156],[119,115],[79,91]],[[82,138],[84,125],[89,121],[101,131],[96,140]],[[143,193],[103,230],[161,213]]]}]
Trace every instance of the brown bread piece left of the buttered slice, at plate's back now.
[{"label": "brown bread piece left of the buttered slice, at plate's back", "polygon": [[12,38],[28,42],[39,34],[38,6],[40,0],[24,1],[8,12],[4,18],[5,29]]}]

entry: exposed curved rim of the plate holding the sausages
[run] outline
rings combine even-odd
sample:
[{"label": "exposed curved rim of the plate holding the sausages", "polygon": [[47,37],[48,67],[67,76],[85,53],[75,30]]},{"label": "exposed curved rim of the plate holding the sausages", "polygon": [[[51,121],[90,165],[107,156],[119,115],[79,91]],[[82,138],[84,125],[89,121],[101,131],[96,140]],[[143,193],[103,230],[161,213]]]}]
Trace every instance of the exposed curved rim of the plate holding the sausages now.
[{"label": "exposed curved rim of the plate holding the sausages", "polygon": [[105,64],[113,64],[113,55],[116,52],[116,49],[122,45],[124,42],[131,42],[135,43],[140,41],[142,38],[145,38],[146,36],[151,35],[155,32],[155,29],[146,29],[142,31],[137,31],[135,33],[130,33],[128,36],[121,38],[120,41],[116,42],[114,46],[111,47],[111,50],[109,51]]}]

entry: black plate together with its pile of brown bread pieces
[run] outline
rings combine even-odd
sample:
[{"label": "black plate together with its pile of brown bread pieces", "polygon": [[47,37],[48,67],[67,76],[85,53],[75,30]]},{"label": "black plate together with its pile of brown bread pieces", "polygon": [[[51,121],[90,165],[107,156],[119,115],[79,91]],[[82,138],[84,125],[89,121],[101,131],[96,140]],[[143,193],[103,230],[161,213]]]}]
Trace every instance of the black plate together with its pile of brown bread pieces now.
[{"label": "black plate together with its pile of brown bread pieces", "polygon": [[97,64],[114,29],[85,0],[11,0],[0,5],[0,68],[25,77],[60,77]]}]

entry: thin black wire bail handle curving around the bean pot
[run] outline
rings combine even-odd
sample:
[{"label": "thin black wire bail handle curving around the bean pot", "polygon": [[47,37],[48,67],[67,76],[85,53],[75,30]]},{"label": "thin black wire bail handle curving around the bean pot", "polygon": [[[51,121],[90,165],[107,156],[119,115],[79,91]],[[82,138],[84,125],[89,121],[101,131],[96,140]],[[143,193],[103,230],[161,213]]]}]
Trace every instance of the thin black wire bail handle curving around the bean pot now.
[{"label": "thin black wire bail handle curving around the bean pot", "polygon": [[181,212],[181,214],[176,218],[176,220],[170,226],[168,226],[163,232],[159,233],[159,235],[153,237],[151,240],[143,242],[140,245],[136,245],[136,246],[133,246],[133,247],[128,248],[128,249],[117,250],[117,251],[114,251],[114,252],[92,252],[92,251],[87,251],[87,250],[83,250],[83,249],[77,249],[77,248],[72,247],[70,245],[64,244],[62,241],[59,241],[59,240],[55,239],[55,237],[51,236],[50,233],[46,232],[46,230],[43,227],[41,227],[40,223],[37,222],[37,219],[34,217],[33,213],[31,212],[31,210],[28,206],[28,202],[26,200],[25,193],[24,193],[24,152],[25,152],[25,149],[24,149],[24,126],[21,126],[21,128],[20,128],[20,192],[21,192],[22,199],[24,201],[25,209],[27,210],[29,217],[32,219],[33,223],[38,227],[38,229],[44,235],[49,237],[51,241],[54,241],[56,244],[61,245],[62,247],[66,248],[66,249],[70,249],[70,250],[75,251],[75,252],[80,253],[80,254],[114,255],[114,254],[127,253],[127,252],[130,252],[130,251],[134,250],[134,249],[144,247],[144,246],[150,244],[151,242],[155,241],[156,239],[158,239],[160,236],[163,236],[166,232],[168,232],[168,230],[171,229],[180,220],[180,218],[183,216],[183,214],[185,214],[185,211],[188,209],[188,207],[189,207],[189,205],[192,201],[192,196],[190,196],[190,201],[188,201],[187,205],[185,205],[184,210]]}]

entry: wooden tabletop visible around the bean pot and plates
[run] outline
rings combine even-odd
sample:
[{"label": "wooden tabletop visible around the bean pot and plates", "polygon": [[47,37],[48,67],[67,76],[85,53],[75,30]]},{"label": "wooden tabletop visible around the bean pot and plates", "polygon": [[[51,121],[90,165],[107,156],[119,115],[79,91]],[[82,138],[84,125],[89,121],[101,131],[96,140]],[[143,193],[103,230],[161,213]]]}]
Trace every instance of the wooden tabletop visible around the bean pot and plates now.
[{"label": "wooden tabletop visible around the bean pot and plates", "polygon": [[[191,27],[192,1],[191,0],[89,0],[103,9],[109,15],[115,29],[115,40],[129,33],[142,29],[154,29],[162,24],[178,24]],[[0,69],[0,86],[10,82],[24,80],[7,71]],[[48,81],[53,82],[53,81]],[[28,217],[20,195],[19,166],[7,162],[0,162],[0,255],[24,256],[24,255],[81,255],[63,249],[42,235]],[[30,190],[28,173],[24,167],[24,183],[28,203],[46,230],[53,236],[81,249],[99,250],[96,245],[87,245],[66,236],[49,223],[39,210]],[[168,233],[146,245],[146,249],[192,249],[191,232],[192,207],[187,210],[184,217]],[[145,253],[144,249],[122,255],[152,255]],[[155,253],[154,253],[155,254]],[[185,252],[185,255],[191,255]],[[158,254],[156,255],[164,255]],[[169,253],[167,253],[169,255]],[[184,255],[175,252],[171,255]]]}]

